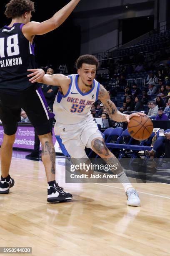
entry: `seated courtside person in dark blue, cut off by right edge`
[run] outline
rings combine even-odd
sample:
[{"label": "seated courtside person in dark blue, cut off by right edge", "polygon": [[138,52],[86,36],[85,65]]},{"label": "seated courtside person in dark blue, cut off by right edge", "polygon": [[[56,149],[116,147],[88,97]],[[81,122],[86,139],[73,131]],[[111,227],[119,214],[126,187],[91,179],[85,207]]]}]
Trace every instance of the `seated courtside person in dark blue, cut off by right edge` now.
[{"label": "seated courtside person in dark blue, cut off by right edge", "polygon": [[153,145],[153,149],[145,150],[146,156],[154,158],[150,168],[156,168],[159,164],[159,159],[162,154],[165,154],[165,163],[158,167],[157,170],[170,170],[170,133],[164,133],[164,136],[159,136]]}]

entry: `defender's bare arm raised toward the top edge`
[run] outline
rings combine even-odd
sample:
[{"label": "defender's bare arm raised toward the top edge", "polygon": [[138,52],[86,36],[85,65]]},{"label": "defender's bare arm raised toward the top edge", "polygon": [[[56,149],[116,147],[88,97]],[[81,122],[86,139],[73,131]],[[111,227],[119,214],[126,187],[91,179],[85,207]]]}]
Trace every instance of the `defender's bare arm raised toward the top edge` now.
[{"label": "defender's bare arm raised toward the top edge", "polygon": [[68,18],[79,2],[80,0],[71,0],[70,3],[55,13],[49,20],[45,20],[41,23],[35,21],[26,23],[22,28],[23,34],[26,37],[43,35],[58,28]]}]

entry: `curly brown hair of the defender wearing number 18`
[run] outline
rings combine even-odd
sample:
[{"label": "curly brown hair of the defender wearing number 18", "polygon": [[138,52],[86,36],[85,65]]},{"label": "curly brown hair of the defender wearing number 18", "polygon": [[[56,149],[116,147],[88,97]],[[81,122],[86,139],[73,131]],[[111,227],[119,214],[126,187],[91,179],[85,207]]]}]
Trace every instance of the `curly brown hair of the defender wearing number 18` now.
[{"label": "curly brown hair of the defender wearing number 18", "polygon": [[25,12],[35,11],[34,3],[30,0],[10,0],[10,2],[5,5],[5,8],[7,18],[20,17]]}]

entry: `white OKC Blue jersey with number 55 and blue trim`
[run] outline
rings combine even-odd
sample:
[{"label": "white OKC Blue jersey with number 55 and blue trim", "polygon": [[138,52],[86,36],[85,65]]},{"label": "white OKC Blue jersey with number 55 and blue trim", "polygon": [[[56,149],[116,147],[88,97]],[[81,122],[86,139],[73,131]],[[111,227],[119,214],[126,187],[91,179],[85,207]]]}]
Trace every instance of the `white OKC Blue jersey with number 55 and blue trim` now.
[{"label": "white OKC Blue jersey with number 55 and blue trim", "polygon": [[71,83],[66,95],[57,93],[53,105],[56,123],[65,125],[77,124],[92,118],[90,109],[97,100],[100,84],[94,79],[92,89],[89,92],[82,93],[78,87],[78,74],[69,76]]}]

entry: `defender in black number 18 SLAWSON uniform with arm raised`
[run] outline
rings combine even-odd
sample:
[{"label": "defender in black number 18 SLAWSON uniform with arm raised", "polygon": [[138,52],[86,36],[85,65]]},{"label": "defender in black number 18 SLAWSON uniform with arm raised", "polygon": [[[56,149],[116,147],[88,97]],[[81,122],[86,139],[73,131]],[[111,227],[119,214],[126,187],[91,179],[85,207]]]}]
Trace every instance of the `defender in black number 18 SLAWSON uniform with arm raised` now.
[{"label": "defender in black number 18 SLAWSON uniform with arm raised", "polygon": [[[55,182],[55,148],[52,143],[49,111],[40,87],[29,82],[27,69],[35,68],[35,35],[43,35],[59,27],[70,15],[80,0],[71,0],[52,18],[42,23],[30,22],[35,11],[30,0],[11,0],[6,5],[5,15],[12,18],[8,26],[0,29],[0,119],[4,128],[1,145],[0,193],[9,193],[14,179],[9,175],[15,133],[20,121],[21,108],[25,110],[42,143],[42,161],[48,182],[48,202],[66,201],[72,195],[63,191]],[[41,75],[41,70],[37,70]],[[42,73],[42,76],[44,73]]]}]

